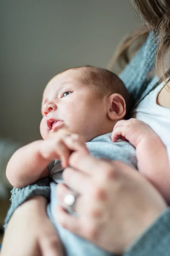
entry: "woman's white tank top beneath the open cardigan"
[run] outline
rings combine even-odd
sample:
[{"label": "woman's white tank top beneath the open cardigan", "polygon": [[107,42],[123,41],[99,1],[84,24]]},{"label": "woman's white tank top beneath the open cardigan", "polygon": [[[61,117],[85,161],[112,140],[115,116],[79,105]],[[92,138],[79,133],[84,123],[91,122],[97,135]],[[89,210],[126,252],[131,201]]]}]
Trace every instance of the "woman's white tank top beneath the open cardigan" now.
[{"label": "woman's white tank top beneath the open cardigan", "polygon": [[133,111],[133,118],[149,125],[167,147],[170,162],[170,108],[156,103],[157,96],[164,87],[164,81],[151,91]]}]

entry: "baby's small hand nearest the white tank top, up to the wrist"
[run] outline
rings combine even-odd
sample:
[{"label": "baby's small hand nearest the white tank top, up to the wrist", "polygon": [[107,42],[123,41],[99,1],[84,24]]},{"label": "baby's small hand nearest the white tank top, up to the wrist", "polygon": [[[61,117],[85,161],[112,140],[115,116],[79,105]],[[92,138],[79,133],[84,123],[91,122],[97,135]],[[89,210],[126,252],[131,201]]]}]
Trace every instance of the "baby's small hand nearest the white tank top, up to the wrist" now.
[{"label": "baby's small hand nearest the white tank top, up to the wrist", "polygon": [[158,137],[155,132],[144,122],[131,118],[129,120],[121,120],[116,123],[111,134],[112,142],[119,139],[129,141],[136,147],[141,140],[152,140]]}]

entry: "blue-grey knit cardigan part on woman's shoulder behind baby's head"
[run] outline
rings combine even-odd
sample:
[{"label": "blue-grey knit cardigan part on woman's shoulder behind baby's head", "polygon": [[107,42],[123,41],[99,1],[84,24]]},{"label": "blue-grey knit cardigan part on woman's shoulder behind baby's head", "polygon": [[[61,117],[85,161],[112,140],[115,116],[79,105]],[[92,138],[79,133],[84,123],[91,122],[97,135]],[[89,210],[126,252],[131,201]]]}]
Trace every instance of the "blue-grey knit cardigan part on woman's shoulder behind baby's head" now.
[{"label": "blue-grey knit cardigan part on woman's shoulder behind baby's head", "polygon": [[155,76],[149,79],[148,76],[155,67],[156,48],[157,42],[152,31],[147,41],[119,76],[130,93],[134,107],[157,85],[158,78]]}]

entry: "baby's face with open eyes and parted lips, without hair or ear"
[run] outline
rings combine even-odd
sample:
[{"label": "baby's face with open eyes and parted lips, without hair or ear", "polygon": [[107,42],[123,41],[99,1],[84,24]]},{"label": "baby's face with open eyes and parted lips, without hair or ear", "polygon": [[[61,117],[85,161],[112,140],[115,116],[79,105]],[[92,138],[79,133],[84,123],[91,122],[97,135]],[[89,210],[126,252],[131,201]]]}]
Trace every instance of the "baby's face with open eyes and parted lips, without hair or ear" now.
[{"label": "baby's face with open eyes and parted lips, without hair or ear", "polygon": [[47,139],[61,127],[85,136],[86,141],[101,134],[106,112],[104,99],[96,89],[82,84],[79,70],[67,70],[49,81],[42,98],[42,120],[40,133]]}]

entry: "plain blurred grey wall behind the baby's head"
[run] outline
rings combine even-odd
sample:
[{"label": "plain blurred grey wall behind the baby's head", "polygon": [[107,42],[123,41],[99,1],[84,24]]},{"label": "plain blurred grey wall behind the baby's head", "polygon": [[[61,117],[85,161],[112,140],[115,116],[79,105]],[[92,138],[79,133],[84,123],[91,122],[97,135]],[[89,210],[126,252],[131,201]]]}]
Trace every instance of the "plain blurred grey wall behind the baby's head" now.
[{"label": "plain blurred grey wall behind the baby's head", "polygon": [[73,66],[107,67],[139,26],[127,0],[0,1],[0,137],[40,138],[45,84]]}]

